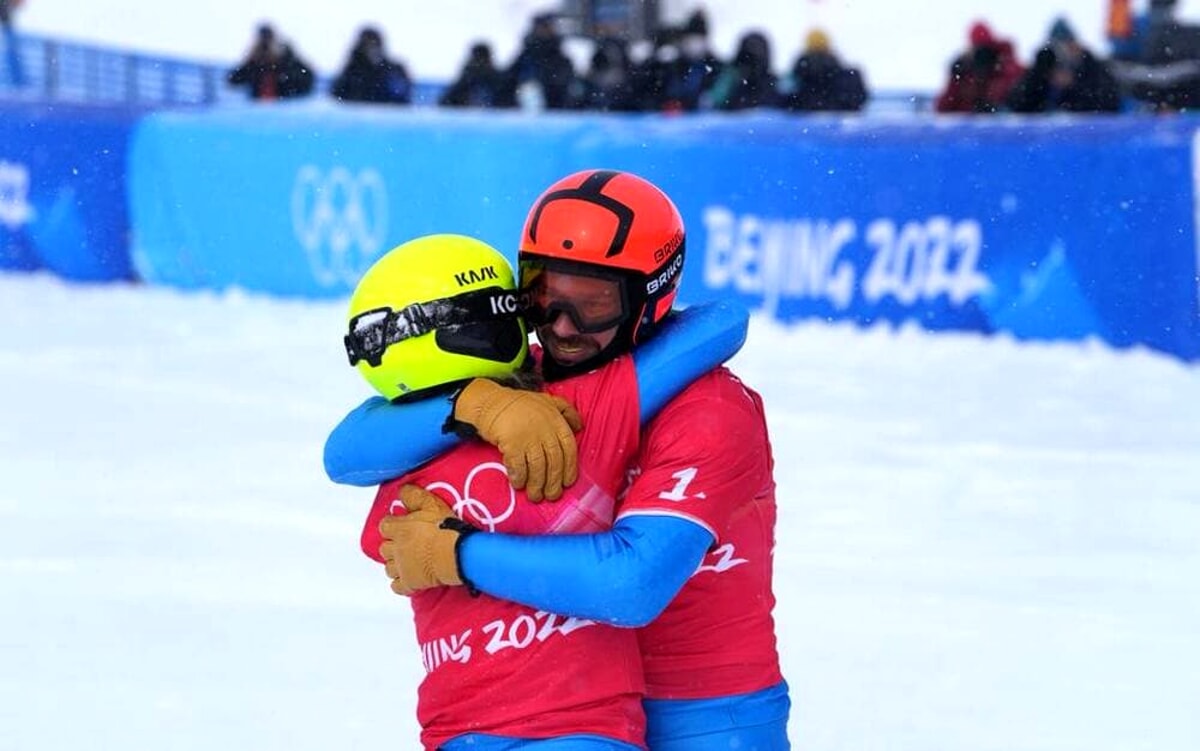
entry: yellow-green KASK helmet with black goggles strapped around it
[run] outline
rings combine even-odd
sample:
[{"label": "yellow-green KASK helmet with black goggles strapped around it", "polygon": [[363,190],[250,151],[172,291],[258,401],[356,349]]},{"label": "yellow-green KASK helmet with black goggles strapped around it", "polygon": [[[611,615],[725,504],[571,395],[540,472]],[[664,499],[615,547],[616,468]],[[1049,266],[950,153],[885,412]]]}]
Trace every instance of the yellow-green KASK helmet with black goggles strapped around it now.
[{"label": "yellow-green KASK helmet with black goggles strapped around it", "polygon": [[512,266],[466,235],[426,235],[377,260],[350,296],[346,353],[389,399],[512,373],[528,337]]}]

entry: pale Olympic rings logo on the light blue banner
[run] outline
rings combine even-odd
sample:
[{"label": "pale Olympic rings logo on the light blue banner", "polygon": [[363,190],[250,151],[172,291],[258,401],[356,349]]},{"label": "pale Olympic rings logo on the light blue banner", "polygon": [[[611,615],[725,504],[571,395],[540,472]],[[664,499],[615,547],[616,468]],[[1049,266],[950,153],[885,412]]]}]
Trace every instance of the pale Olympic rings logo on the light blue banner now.
[{"label": "pale Olympic rings logo on the light blue banner", "polygon": [[306,164],[292,186],[292,232],[322,287],[358,283],[379,257],[388,236],[388,190],[366,168],[328,173]]}]

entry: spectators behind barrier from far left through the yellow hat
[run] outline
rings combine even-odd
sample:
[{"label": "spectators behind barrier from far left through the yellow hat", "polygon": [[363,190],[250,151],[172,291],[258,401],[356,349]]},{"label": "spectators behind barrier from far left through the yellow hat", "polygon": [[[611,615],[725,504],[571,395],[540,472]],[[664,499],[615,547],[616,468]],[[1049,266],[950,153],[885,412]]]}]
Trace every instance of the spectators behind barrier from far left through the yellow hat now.
[{"label": "spectators behind barrier from far left through the yellow hat", "polygon": [[[616,35],[594,40],[584,70],[564,50],[559,18],[535,16],[514,60],[496,60],[486,42],[472,44],[457,76],[440,92],[443,107],[601,112],[698,112],[779,108],[857,112],[868,101],[862,71],[842,62],[829,35],[809,32],[788,74],[772,71],[770,42],[745,32],[737,53],[722,60],[709,46],[708,18],[695,11],[683,24],[660,29],[653,40]],[[312,66],[276,30],[258,28],[229,83],[256,100],[308,96]],[[388,54],[383,31],[360,30],[329,95],[344,102],[410,104],[413,79]]]}]

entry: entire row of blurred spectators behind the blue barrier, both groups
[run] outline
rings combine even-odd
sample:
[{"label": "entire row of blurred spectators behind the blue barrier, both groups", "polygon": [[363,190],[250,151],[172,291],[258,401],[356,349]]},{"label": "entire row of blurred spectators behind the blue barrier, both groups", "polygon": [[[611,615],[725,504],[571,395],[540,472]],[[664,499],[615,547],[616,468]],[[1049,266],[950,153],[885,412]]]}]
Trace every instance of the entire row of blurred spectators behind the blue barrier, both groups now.
[{"label": "entire row of blurred spectators behind the blue barrier, both groups", "polygon": [[[1175,19],[1176,0],[1110,0],[1110,59],[1088,49],[1067,18],[1048,29],[1032,59],[985,20],[966,30],[965,46],[932,98],[938,113],[1115,113],[1177,110],[1200,102],[1200,29]],[[709,44],[708,18],[696,10],[652,40],[599,34],[577,70],[564,50],[559,18],[535,16],[516,56],[496,59],[487,42],[467,50],[457,76],[440,90],[442,107],[691,113],[780,109],[853,113],[870,100],[864,72],[842,60],[828,31],[811,29],[782,76],[772,70],[770,41],[744,32],[730,59]],[[229,73],[256,100],[312,95],[312,67],[269,24]],[[386,49],[383,31],[361,29],[329,95],[343,102],[412,104],[414,82]]]}]

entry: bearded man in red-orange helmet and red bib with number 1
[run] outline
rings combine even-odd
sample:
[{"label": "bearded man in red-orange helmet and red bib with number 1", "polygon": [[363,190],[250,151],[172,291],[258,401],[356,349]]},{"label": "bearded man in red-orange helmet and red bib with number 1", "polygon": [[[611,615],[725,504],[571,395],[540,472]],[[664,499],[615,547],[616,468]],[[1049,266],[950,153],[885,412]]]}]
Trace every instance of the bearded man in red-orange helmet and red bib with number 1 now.
[{"label": "bearded man in red-orange helmet and red bib with number 1", "polygon": [[[671,311],[684,240],[670,198],[636,175],[587,170],[544,192],[518,262],[545,377],[636,354]],[[379,413],[346,429],[360,444],[364,435],[395,444],[386,437],[396,423]],[[338,431],[330,441],[343,464],[331,476],[353,474],[354,441]],[[330,444],[326,470],[329,456]],[[761,398],[728,370],[710,371],[644,427],[629,476],[617,522],[604,533],[460,537],[439,525],[439,513],[391,521],[392,588],[464,581],[547,612],[637,627],[652,751],[788,749],[790,698],[772,617],[775,486]],[[434,565],[446,560],[454,565]]]}]

